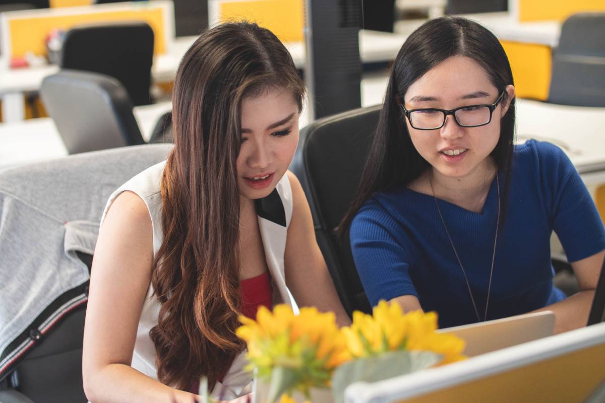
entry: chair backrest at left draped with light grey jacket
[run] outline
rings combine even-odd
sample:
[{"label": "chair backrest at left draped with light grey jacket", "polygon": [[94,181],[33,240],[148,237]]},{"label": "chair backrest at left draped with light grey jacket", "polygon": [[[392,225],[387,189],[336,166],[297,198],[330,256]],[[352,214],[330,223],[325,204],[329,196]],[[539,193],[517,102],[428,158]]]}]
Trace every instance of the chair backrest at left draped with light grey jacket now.
[{"label": "chair backrest at left draped with light grey jacket", "polygon": [[0,170],[0,402],[87,401],[85,265],[99,220],[111,193],[171,148],[122,147]]}]

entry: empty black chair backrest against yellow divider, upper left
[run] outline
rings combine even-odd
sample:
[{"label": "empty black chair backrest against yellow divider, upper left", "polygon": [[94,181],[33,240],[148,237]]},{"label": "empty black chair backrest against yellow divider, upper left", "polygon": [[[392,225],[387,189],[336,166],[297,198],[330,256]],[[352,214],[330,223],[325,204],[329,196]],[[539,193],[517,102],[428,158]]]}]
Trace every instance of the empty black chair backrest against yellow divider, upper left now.
[{"label": "empty black chair backrest against yellow divider, upper left", "polygon": [[154,33],[146,22],[79,25],[65,33],[60,66],[114,77],[135,106],[148,105],[153,53]]}]

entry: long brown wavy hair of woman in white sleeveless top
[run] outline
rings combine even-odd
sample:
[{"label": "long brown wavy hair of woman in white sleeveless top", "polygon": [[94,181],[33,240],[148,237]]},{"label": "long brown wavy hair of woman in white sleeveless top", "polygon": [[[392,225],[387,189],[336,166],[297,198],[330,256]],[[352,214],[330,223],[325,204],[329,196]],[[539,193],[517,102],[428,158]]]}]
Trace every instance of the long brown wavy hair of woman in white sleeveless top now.
[{"label": "long brown wavy hair of woman in white sleeveless top", "polygon": [[222,24],[180,63],[172,97],[175,147],[162,178],[164,239],[151,284],[162,307],[149,332],[161,382],[210,388],[244,349],[235,336],[241,298],[236,160],[241,101],[288,88],[299,111],[304,85],[280,40],[257,24]]}]

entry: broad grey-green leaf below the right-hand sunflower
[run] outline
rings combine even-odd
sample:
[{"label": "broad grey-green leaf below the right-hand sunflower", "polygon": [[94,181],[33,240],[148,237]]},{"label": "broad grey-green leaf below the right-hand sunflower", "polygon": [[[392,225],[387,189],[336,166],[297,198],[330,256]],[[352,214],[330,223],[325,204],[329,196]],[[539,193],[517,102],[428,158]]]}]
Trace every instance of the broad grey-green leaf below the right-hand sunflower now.
[{"label": "broad grey-green leaf below the right-hand sunflower", "polygon": [[332,375],[332,393],[335,403],[344,401],[344,390],[353,382],[376,382],[405,375],[433,366],[442,356],[428,351],[392,351],[382,355],[358,358],[342,364]]}]

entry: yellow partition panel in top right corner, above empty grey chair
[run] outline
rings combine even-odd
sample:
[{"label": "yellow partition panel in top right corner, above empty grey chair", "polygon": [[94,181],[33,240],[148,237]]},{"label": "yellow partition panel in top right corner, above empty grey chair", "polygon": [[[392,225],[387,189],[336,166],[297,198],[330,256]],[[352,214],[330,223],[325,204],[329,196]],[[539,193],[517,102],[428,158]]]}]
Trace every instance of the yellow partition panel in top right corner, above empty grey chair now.
[{"label": "yellow partition panel in top right corner, above empty grey chair", "polygon": [[520,22],[564,19],[583,11],[605,11],[604,0],[517,0]]}]

